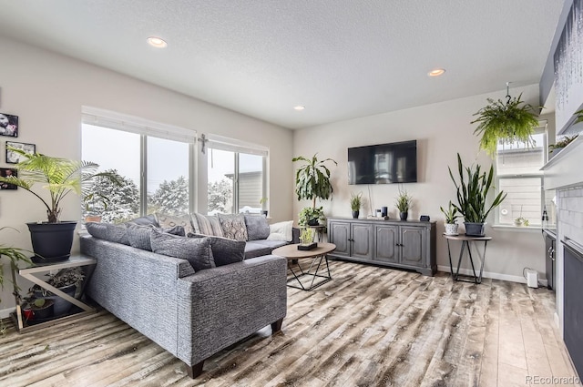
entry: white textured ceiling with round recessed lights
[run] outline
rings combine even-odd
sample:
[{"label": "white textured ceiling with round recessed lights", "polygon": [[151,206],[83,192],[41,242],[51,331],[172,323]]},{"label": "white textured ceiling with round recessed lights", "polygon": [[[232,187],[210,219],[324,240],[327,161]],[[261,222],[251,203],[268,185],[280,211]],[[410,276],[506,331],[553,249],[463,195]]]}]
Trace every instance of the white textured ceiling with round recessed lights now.
[{"label": "white textured ceiling with round recessed lights", "polygon": [[537,83],[562,5],[0,0],[0,36],[301,128]]}]

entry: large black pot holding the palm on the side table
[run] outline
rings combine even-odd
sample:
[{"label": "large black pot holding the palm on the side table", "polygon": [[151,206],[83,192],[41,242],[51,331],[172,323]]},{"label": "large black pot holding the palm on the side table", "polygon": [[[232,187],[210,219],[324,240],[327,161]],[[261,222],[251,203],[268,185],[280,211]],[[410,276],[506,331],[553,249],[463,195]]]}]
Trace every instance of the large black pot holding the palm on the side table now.
[{"label": "large black pot holding the palm on the side table", "polygon": [[33,242],[36,263],[68,260],[73,246],[76,221],[58,223],[26,223]]}]

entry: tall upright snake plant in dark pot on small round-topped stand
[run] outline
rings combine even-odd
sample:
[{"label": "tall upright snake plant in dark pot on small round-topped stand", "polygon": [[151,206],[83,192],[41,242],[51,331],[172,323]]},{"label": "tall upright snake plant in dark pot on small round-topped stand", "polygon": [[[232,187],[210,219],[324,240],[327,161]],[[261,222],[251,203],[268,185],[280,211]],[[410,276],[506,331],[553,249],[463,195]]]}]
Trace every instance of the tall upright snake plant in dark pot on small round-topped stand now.
[{"label": "tall upright snake plant in dark pot on small round-topped stand", "polygon": [[464,167],[462,158],[457,154],[457,170],[459,173],[459,183],[454,178],[452,169],[449,168],[449,176],[454,181],[457,190],[457,204],[455,209],[464,217],[465,234],[473,237],[483,237],[485,222],[488,214],[492,209],[506,199],[506,193],[500,190],[494,201],[487,206],[486,199],[492,186],[494,178],[494,167],[482,172],[480,166]]}]

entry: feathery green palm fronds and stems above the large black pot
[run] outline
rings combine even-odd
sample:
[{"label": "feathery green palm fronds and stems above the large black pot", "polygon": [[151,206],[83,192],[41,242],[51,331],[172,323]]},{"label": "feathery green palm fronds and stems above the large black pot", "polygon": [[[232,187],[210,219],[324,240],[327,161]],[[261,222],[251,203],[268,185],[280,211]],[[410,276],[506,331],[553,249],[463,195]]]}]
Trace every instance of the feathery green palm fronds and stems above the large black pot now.
[{"label": "feathery green palm fronds and stems above the large black pot", "polygon": [[[14,184],[26,189],[39,199],[46,208],[48,223],[56,223],[61,213],[61,201],[74,192],[81,194],[82,183],[98,176],[117,177],[107,172],[98,172],[99,166],[89,161],[79,161],[67,158],[54,158],[40,153],[28,154],[21,149],[8,147],[21,155],[24,160],[16,164],[18,177],[0,177],[0,182]],[[42,185],[49,192],[49,199],[43,198],[36,192],[36,184]]]}]

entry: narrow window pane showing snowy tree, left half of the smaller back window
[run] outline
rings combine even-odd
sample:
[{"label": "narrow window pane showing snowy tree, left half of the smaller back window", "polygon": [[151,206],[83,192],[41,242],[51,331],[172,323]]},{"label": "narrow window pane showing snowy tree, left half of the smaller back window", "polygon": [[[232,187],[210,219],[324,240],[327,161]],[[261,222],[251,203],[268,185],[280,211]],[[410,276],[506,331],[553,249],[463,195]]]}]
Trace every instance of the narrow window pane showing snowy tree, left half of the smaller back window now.
[{"label": "narrow window pane showing snowy tree, left half of the smaller back window", "polygon": [[233,213],[235,153],[210,148],[208,155],[208,209],[209,215]]}]

